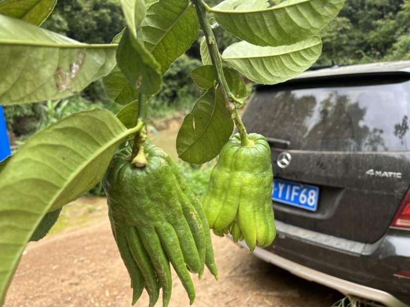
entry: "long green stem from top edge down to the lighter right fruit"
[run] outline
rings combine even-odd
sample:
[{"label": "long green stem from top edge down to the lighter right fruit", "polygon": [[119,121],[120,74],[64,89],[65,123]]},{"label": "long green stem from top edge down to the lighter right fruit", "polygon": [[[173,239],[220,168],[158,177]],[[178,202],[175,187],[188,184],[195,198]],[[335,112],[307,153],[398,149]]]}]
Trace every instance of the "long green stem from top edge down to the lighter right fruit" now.
[{"label": "long green stem from top edge down to the lighter right fruit", "polygon": [[214,32],[212,31],[211,25],[207,20],[207,12],[206,12],[206,4],[203,0],[193,0],[195,5],[196,14],[198,15],[199,24],[205,36],[205,40],[207,42],[208,51],[211,57],[212,65],[215,69],[215,75],[217,78],[217,83],[219,85],[218,89],[220,89],[222,93],[223,100],[225,101],[225,106],[228,112],[231,114],[231,118],[235,122],[236,127],[238,128],[238,132],[240,134],[241,139],[241,146],[242,147],[252,147],[252,141],[249,140],[247,130],[243,125],[242,119],[236,109],[236,105],[234,100],[232,99],[233,94],[228,87],[227,80],[223,74],[222,69],[222,59],[219,54],[218,46],[216,44],[216,39]]}]

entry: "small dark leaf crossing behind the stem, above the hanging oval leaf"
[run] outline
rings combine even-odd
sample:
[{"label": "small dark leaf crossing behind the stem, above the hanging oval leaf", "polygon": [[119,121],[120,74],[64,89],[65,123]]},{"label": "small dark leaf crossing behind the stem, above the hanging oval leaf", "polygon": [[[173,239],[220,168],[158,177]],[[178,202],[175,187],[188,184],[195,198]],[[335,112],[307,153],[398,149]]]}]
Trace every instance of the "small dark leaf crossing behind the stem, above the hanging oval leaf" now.
[{"label": "small dark leaf crossing behind the stem, above the hanging oval leaf", "polygon": [[[223,75],[227,80],[231,93],[234,94],[235,97],[243,98],[247,96],[245,82],[235,70],[224,67]],[[214,86],[216,79],[215,69],[212,65],[199,66],[191,72],[191,77],[198,87],[208,90]]]}]

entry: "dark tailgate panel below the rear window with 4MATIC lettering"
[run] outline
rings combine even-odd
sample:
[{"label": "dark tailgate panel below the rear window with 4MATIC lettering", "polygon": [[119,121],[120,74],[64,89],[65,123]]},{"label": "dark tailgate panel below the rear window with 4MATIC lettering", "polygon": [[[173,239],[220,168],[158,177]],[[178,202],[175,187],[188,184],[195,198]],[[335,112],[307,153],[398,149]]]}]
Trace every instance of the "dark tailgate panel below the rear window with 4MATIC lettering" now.
[{"label": "dark tailgate panel below the rear window with 4MATIC lettering", "polygon": [[[272,149],[274,177],[318,186],[320,194],[316,212],[274,202],[275,217],[346,239],[368,243],[383,236],[410,182],[409,155],[404,153],[369,155],[289,150],[286,152],[291,154],[292,161],[288,168],[281,169],[276,163],[280,152]],[[375,168],[400,172],[402,176],[366,174]],[[392,202],[395,206],[386,206]],[[355,227],[344,227],[347,220]]]}]

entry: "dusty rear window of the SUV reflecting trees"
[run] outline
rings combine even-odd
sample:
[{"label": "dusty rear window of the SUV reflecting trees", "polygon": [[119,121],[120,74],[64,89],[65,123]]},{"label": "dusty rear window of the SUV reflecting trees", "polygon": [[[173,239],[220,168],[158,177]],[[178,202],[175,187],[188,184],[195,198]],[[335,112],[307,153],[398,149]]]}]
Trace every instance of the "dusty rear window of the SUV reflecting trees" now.
[{"label": "dusty rear window of the SUV reflecting trees", "polygon": [[394,77],[263,87],[251,107],[266,136],[314,151],[401,151],[410,146],[410,81]]}]

